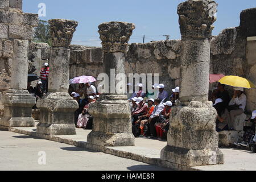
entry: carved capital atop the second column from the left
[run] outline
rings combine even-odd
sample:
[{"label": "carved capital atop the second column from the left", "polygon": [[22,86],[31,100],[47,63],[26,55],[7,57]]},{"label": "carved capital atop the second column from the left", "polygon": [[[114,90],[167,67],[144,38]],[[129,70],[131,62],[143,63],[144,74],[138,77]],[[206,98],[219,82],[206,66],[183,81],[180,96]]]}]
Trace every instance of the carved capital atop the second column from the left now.
[{"label": "carved capital atop the second column from the left", "polygon": [[52,47],[69,47],[78,22],[67,19],[51,19],[48,22]]}]

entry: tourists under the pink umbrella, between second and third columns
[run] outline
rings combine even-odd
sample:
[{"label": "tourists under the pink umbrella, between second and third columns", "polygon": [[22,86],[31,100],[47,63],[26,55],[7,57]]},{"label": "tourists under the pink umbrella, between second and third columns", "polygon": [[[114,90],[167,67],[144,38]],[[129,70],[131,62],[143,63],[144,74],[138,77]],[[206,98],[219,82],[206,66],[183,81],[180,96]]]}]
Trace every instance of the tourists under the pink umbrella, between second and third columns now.
[{"label": "tourists under the pink umbrella, between second and third columns", "polygon": [[75,125],[77,128],[85,130],[92,129],[93,118],[88,109],[90,104],[97,101],[100,97],[97,93],[96,87],[91,83],[79,84],[75,90],[69,85],[69,94],[79,104],[79,108],[75,111]]}]

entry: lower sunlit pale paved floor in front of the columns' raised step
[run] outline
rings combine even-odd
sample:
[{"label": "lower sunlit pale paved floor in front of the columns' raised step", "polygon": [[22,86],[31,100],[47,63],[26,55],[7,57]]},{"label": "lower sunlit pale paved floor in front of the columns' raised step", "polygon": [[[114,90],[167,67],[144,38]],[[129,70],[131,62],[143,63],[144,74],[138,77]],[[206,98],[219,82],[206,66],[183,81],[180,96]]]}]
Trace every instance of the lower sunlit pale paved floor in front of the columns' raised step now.
[{"label": "lower sunlit pale paved floor in front of the columns' raised step", "polygon": [[[0,170],[168,170],[135,160],[9,131],[0,130],[0,138]],[[46,152],[46,165],[38,164],[39,151]]]}]

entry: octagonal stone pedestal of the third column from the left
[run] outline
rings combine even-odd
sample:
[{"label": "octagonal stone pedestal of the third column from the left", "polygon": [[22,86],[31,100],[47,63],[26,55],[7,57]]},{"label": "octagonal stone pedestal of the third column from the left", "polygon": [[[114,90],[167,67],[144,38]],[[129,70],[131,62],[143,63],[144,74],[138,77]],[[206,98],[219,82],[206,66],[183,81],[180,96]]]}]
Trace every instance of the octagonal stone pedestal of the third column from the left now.
[{"label": "octagonal stone pedestal of the third column from the left", "polygon": [[134,146],[127,96],[108,95],[101,99],[89,107],[93,130],[87,142],[97,146]]}]

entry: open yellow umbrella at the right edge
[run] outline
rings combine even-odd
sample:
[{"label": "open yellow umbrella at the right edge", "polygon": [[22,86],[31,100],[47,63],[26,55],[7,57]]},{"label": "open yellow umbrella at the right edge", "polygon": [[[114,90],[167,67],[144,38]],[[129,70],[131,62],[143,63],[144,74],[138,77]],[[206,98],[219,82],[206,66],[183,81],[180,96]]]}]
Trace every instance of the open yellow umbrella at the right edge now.
[{"label": "open yellow umbrella at the right edge", "polygon": [[255,88],[255,85],[253,84],[253,82],[239,76],[225,76],[221,78],[218,82],[224,85],[230,85],[230,86],[241,87],[246,89]]}]

